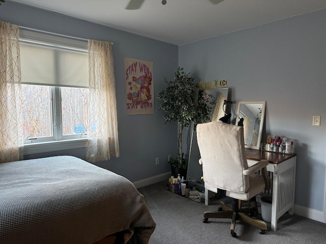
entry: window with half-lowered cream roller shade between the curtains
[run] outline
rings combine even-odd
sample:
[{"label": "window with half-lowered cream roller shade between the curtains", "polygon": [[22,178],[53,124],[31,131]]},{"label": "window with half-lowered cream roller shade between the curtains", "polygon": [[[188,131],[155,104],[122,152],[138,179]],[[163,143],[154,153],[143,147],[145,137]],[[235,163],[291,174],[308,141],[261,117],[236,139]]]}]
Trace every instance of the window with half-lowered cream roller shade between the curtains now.
[{"label": "window with half-lowered cream roller shade between the curtains", "polygon": [[86,138],[87,41],[19,32],[24,144]]}]

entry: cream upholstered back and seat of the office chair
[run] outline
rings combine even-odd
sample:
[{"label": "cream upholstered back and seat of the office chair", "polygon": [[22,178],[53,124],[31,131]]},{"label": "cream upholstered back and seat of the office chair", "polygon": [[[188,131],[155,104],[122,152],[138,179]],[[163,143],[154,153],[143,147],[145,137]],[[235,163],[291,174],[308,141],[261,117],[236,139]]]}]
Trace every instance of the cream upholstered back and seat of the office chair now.
[{"label": "cream upholstered back and seat of the office chair", "polygon": [[[197,125],[196,130],[207,190],[226,190],[226,196],[239,200],[249,200],[264,190],[263,177],[255,174],[257,166],[248,167],[243,127],[212,121]],[[264,167],[268,161],[258,164]]]}]

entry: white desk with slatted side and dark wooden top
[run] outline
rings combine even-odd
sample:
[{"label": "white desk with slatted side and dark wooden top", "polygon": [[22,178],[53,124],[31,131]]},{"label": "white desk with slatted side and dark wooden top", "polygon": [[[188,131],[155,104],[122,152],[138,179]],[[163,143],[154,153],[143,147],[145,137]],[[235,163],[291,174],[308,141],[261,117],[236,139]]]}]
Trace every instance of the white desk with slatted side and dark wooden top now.
[{"label": "white desk with slatted side and dark wooden top", "polygon": [[[270,228],[277,230],[278,219],[289,212],[294,212],[294,187],[295,187],[295,165],[296,154],[281,154],[270,151],[260,151],[246,148],[248,166],[260,160],[267,160],[267,171],[273,173],[271,184],[271,223]],[[209,204],[209,193],[205,189],[205,204]]]}]

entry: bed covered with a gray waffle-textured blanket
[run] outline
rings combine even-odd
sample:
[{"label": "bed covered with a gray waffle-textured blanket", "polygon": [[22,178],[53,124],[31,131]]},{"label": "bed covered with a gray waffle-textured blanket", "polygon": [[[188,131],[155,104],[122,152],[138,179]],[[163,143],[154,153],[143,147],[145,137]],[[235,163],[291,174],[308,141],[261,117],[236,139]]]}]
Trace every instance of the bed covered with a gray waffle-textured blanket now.
[{"label": "bed covered with a gray waffle-textured blanket", "polygon": [[82,159],[0,164],[0,243],[148,243],[155,226],[128,179]]}]

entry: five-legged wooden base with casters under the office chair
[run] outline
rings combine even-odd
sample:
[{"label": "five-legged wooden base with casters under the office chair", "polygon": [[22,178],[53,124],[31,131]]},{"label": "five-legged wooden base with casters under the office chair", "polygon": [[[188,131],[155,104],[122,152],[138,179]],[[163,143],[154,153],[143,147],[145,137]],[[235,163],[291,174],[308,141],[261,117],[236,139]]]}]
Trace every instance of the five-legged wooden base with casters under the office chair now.
[{"label": "five-legged wooden base with casters under the office chair", "polygon": [[232,219],[231,222],[231,235],[233,237],[236,237],[236,233],[234,232],[235,222],[237,220],[241,220],[243,222],[246,222],[248,224],[251,224],[253,226],[256,226],[260,228],[259,233],[264,234],[267,230],[267,224],[266,222],[262,220],[258,220],[256,218],[253,218],[255,214],[256,208],[255,207],[248,207],[248,208],[241,208],[241,209],[232,209],[228,205],[226,205],[224,202],[220,202],[219,211],[215,212],[204,212],[204,223],[208,223],[209,218],[222,218],[222,219]]}]

